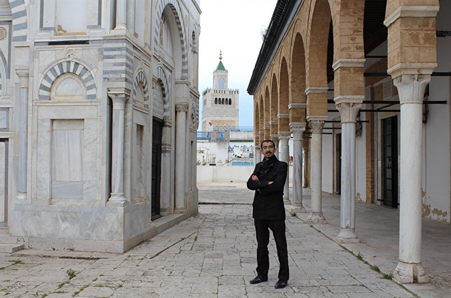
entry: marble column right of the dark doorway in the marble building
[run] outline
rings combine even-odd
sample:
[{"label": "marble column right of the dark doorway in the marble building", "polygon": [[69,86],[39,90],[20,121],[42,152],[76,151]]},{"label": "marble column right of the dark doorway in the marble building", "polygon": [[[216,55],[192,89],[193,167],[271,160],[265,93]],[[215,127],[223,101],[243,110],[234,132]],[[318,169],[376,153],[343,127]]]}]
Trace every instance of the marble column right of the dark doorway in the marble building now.
[{"label": "marble column right of the dark doorway in the marble building", "polygon": [[186,211],[185,206],[185,150],[187,103],[175,104],[175,213]]}]

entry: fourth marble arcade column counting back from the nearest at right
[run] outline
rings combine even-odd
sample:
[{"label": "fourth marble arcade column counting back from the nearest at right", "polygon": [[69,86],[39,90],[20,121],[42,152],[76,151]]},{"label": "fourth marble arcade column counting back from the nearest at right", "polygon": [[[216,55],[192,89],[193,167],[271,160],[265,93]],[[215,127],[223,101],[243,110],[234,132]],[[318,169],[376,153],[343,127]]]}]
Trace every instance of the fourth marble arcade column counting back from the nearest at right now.
[{"label": "fourth marble arcade column counting back from the nearest at right", "polygon": [[305,123],[290,124],[293,132],[293,199],[290,212],[305,212],[302,205],[302,135]]}]

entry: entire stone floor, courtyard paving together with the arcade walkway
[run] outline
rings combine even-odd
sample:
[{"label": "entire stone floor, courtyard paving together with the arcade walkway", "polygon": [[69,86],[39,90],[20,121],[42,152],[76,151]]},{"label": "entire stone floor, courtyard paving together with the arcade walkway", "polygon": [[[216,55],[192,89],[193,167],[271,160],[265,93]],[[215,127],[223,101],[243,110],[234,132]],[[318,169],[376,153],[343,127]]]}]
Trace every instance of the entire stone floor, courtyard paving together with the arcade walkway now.
[{"label": "entire stone floor, courtyard paving together with the arcade walkway", "polygon": [[[431,283],[402,286],[383,275],[391,273],[397,263],[397,210],[357,204],[356,230],[361,243],[343,246],[334,241],[339,197],[327,194],[323,211],[328,224],[309,225],[304,221],[308,213],[290,216],[287,211],[288,286],[274,288],[279,266],[273,239],[269,245],[269,280],[251,285],[249,280],[256,274],[253,193],[244,183],[198,187],[197,215],[126,253],[73,252],[64,258],[38,257],[40,252],[30,250],[1,253],[0,296],[451,296],[449,224],[423,221],[423,265]],[[308,210],[308,190],[304,204]],[[445,237],[433,240],[440,236],[437,233]]]}]

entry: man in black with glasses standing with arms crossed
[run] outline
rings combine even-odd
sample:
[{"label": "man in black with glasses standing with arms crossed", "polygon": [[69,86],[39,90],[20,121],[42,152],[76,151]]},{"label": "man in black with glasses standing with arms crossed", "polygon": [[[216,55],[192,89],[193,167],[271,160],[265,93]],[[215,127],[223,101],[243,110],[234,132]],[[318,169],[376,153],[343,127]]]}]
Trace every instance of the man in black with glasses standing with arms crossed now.
[{"label": "man in black with glasses standing with arms crossed", "polygon": [[288,165],[286,162],[279,161],[274,155],[277,149],[272,140],[264,140],[260,144],[260,149],[265,158],[255,166],[254,173],[247,184],[249,189],[255,190],[252,216],[257,235],[257,276],[251,279],[250,283],[268,280],[268,243],[269,229],[271,229],[276,240],[280,263],[279,280],[274,287],[283,288],[290,277],[283,199]]}]

